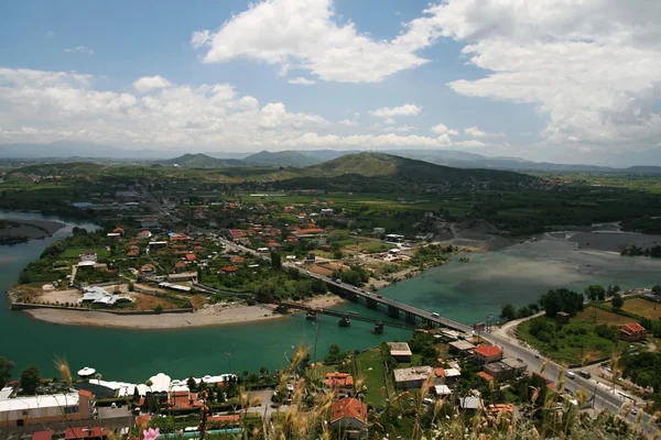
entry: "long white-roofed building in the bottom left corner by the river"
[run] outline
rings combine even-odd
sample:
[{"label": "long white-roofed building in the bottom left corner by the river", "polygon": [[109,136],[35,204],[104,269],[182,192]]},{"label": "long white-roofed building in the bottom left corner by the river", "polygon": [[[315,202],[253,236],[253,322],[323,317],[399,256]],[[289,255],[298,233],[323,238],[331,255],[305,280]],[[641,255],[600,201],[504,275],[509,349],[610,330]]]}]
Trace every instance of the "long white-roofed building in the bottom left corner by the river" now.
[{"label": "long white-roofed building in the bottom left corner by the river", "polygon": [[0,428],[76,422],[95,416],[95,396],[85,391],[0,400]]}]

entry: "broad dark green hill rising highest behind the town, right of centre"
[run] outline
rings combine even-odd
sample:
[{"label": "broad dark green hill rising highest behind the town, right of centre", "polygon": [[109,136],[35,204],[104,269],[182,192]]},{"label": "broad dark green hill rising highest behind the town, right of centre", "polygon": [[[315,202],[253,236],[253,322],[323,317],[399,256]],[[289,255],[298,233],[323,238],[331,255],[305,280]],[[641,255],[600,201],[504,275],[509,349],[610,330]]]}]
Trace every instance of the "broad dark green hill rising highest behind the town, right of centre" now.
[{"label": "broad dark green hill rising highest behind the town, right of centre", "polygon": [[494,169],[463,169],[434,165],[383,153],[349,154],[308,166],[307,173],[314,176],[338,177],[356,175],[370,178],[394,178],[409,182],[442,184],[456,182],[530,182],[534,178],[519,173]]}]

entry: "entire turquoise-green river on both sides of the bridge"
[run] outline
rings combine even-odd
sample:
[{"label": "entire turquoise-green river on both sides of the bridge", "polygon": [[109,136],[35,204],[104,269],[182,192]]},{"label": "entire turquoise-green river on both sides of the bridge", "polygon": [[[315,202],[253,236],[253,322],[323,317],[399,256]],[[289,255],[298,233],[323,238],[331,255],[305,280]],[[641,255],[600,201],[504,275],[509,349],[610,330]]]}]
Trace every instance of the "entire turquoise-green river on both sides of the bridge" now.
[{"label": "entire turquoise-green river on both sides of the bridge", "polygon": [[[0,218],[25,215],[2,213]],[[44,219],[39,215],[30,218]],[[50,218],[45,218],[50,219]],[[74,226],[67,221],[54,238],[14,246],[0,246],[0,290],[7,290],[30,261]],[[472,254],[469,263],[451,262],[419,277],[381,290],[416,307],[435,310],[465,323],[498,315],[500,306],[523,306],[555,287],[583,288],[588,284],[619,284],[622,288],[651,286],[661,282],[661,262],[644,257],[620,257],[603,252],[582,252],[574,243],[539,241],[517,244],[502,251]],[[300,343],[313,349],[315,324],[302,315],[277,321],[176,330],[119,330],[52,324],[26,314],[11,312],[1,300],[0,356],[17,363],[15,374],[34,363],[44,375],[54,374],[55,356],[66,358],[74,371],[97,369],[106,380],[144,382],[164,372],[176,378],[189,375],[220,374],[228,371],[269,370],[285,365],[292,346]],[[359,305],[339,306],[364,315],[381,316]],[[365,349],[382,341],[405,340],[410,332],[387,328],[383,336],[370,332],[367,323],[338,328],[335,318],[318,321],[317,358],[329,344],[343,350]],[[229,353],[229,354],[228,354]]]}]

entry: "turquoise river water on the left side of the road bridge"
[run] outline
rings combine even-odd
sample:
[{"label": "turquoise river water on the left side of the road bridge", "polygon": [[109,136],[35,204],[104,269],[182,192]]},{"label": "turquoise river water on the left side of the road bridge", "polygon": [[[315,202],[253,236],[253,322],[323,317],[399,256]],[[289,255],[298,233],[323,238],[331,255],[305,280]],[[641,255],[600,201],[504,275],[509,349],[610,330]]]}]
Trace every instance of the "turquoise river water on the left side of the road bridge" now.
[{"label": "turquoise river water on the left side of the road bridge", "polygon": [[[19,215],[1,213],[2,217]],[[28,217],[21,215],[20,217]],[[41,216],[32,216],[42,218]],[[67,223],[56,237],[71,233]],[[15,246],[0,246],[0,290],[4,293],[18,278],[21,270],[37,258],[43,249],[56,240],[32,241]],[[34,363],[43,375],[53,375],[55,356],[66,358],[72,370],[94,366],[106,380],[144,382],[165,372],[173,377],[221,374],[231,369],[258,371],[281,369],[292,355],[292,345],[313,348],[315,324],[297,315],[277,321],[176,330],[120,330],[96,327],[61,326],[33,319],[26,314],[10,311],[7,298],[0,300],[0,356],[17,363],[15,374]],[[357,309],[346,305],[343,308]],[[364,314],[377,314],[367,309]],[[410,332],[387,329],[383,336],[372,334],[372,326],[353,322],[338,328],[337,319],[322,317],[318,321],[318,358],[328,345],[337,343],[343,350],[366,349],[388,340],[405,340]],[[226,353],[231,353],[229,356]]]}]

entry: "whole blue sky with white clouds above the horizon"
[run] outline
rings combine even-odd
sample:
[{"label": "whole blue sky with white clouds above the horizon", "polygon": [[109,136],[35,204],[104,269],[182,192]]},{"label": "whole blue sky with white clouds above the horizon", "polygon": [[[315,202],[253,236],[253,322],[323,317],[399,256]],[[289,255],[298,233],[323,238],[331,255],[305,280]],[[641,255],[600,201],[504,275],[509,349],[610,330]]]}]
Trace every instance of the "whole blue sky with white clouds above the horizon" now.
[{"label": "whole blue sky with white clouds above the horizon", "polygon": [[659,22],[658,0],[1,2],[0,144],[646,157]]}]

